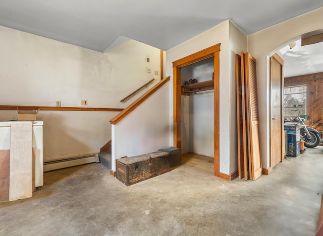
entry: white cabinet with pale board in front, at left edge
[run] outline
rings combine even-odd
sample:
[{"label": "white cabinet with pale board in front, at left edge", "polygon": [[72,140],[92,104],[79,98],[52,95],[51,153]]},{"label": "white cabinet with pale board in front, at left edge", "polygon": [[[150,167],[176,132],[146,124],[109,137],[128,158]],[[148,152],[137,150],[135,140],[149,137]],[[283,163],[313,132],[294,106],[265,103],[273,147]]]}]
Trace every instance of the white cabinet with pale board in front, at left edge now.
[{"label": "white cabinet with pale board in front, at left edge", "polygon": [[43,185],[43,122],[0,122],[0,201],[31,197]]}]

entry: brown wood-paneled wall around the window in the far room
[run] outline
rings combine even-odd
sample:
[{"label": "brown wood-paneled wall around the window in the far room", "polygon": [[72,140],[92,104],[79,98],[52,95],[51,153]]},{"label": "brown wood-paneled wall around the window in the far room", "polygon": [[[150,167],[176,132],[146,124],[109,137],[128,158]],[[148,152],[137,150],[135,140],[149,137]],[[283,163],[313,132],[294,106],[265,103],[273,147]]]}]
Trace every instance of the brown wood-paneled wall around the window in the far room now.
[{"label": "brown wood-paneled wall around the window in the far room", "polygon": [[306,125],[323,132],[323,72],[284,78],[284,87],[306,85]]}]

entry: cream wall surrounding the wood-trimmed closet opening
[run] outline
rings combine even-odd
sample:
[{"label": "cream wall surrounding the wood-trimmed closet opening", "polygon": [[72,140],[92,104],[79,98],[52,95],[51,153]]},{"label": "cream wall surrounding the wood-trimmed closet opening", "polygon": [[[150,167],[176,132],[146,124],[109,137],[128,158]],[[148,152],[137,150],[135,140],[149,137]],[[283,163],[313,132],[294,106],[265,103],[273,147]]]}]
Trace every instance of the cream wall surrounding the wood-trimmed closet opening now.
[{"label": "cream wall surrounding the wood-trimmed closet opening", "polygon": [[[236,109],[232,101],[232,90],[235,90],[235,85],[232,85],[232,73],[230,66],[230,40],[229,40],[229,25],[227,20],[220,25],[213,27],[194,38],[171,48],[166,53],[166,72],[171,76],[171,117],[170,122],[173,124],[173,65],[172,62],[183,58],[187,55],[198,52],[207,47],[221,43],[220,51],[220,172],[231,174],[230,162],[236,158],[234,144],[234,121],[231,116]],[[240,40],[240,39],[237,39]],[[232,103],[233,102],[233,103]],[[235,119],[235,118],[234,118]],[[170,132],[171,145],[173,145],[173,127]]]}]

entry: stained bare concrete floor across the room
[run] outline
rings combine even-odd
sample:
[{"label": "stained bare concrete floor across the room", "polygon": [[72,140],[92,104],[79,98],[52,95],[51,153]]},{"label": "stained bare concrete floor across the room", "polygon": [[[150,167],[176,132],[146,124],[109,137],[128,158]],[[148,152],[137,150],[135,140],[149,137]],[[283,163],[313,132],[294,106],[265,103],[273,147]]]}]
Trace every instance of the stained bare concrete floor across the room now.
[{"label": "stained bare concrete floor across the room", "polygon": [[126,187],[99,163],[44,173],[32,198],[0,203],[0,235],[314,235],[323,147],[256,181],[213,176],[193,154]]}]

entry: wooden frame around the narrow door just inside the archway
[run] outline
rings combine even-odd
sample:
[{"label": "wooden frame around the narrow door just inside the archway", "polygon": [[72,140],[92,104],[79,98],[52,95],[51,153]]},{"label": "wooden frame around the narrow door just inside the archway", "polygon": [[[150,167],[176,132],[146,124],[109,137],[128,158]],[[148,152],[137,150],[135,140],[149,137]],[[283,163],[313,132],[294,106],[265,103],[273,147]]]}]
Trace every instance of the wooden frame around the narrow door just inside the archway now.
[{"label": "wooden frame around the narrow door just inside the archway", "polygon": [[[284,60],[277,54],[275,53],[273,56],[270,57],[270,96],[272,94],[272,60],[275,60],[278,64],[281,65],[281,101],[280,101],[280,107],[281,107],[281,162],[283,162],[284,159],[284,126],[283,126],[283,100],[284,100],[284,75],[283,75],[283,66],[284,66]],[[271,98],[270,98],[271,99]],[[271,100],[270,100],[271,101]],[[271,106],[270,106],[270,132],[271,132],[271,124],[272,124],[272,110],[271,110]],[[272,140],[270,139],[270,144],[271,144]],[[270,174],[273,171],[273,164],[272,164],[272,148],[270,146],[269,148],[270,151],[270,167],[267,170],[268,173],[266,174]]]}]

